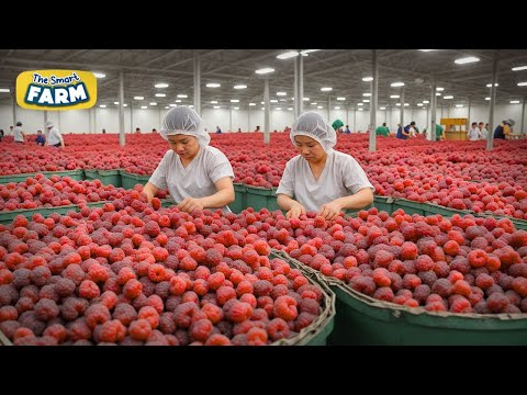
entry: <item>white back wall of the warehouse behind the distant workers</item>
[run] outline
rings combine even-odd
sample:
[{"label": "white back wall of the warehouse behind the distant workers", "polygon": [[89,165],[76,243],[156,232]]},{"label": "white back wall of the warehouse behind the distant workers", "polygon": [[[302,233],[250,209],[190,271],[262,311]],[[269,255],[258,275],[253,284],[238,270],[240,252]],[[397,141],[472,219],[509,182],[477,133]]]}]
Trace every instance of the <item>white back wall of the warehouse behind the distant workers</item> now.
[{"label": "white back wall of the warehouse behind the distant workers", "polygon": [[[310,109],[306,106],[304,110],[318,112],[324,119],[327,119],[327,109]],[[143,133],[150,132],[154,127],[159,131],[162,116],[167,111],[165,108],[147,110],[134,109],[131,120],[131,110],[126,108],[124,109],[124,129],[126,133],[135,131],[136,127],[141,127]],[[396,131],[400,114],[401,110],[399,108],[388,111],[379,110],[377,112],[375,126],[386,122],[391,131]],[[214,132],[216,125],[220,126],[223,132],[227,132],[231,127],[228,109],[203,109],[202,116],[208,131]],[[468,108],[439,106],[437,108],[436,120],[439,122],[441,117],[468,117]],[[509,117],[516,121],[514,129],[519,132],[522,125],[522,104],[496,106],[494,112],[494,122],[496,125],[502,120]],[[63,133],[101,133],[102,128],[105,128],[106,133],[119,133],[119,110],[116,108],[48,111],[48,119],[54,120]],[[293,111],[288,111],[285,108],[282,109],[282,111],[271,111],[270,119],[271,131],[282,131],[285,126],[291,127],[294,122]],[[332,110],[329,113],[329,123],[333,123],[336,119],[341,120],[345,125],[349,125],[352,132],[361,131],[361,133],[366,133],[370,123],[370,113],[368,110]],[[21,121],[24,129],[30,134],[35,134],[37,129],[43,129],[44,127],[44,111],[24,110],[16,106],[16,121]],[[415,121],[417,127],[423,129],[426,127],[426,124],[430,122],[429,110],[405,108],[404,123],[408,124],[411,121]],[[471,106],[470,122],[487,123],[489,105]],[[0,105],[0,128],[7,132],[10,125],[14,125],[12,106]],[[261,106],[257,105],[251,108],[250,112],[247,110],[232,111],[233,132],[236,132],[238,127],[242,128],[243,132],[251,132],[256,128],[256,125],[259,125],[261,129],[264,128],[264,111]],[[527,132],[527,116],[525,132]]]}]

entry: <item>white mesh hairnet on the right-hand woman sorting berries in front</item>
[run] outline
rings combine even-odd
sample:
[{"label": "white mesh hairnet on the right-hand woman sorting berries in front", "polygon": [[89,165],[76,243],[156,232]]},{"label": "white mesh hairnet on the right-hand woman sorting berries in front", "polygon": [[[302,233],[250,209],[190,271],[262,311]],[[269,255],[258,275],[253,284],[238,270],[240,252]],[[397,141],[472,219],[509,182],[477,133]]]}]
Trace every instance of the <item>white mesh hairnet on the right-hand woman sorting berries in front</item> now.
[{"label": "white mesh hairnet on the right-hand woman sorting berries in front", "polygon": [[307,136],[317,140],[324,151],[328,154],[335,144],[337,144],[337,134],[335,129],[324,119],[314,111],[307,111],[294,121],[290,137],[295,145],[294,136]]}]

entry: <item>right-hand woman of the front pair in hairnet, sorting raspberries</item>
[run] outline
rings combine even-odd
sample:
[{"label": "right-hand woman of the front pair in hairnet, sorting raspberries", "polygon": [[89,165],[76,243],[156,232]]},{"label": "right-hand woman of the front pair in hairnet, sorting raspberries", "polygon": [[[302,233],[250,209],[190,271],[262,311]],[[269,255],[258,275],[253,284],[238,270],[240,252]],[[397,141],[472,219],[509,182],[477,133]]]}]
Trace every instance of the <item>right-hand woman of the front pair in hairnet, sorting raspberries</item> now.
[{"label": "right-hand woman of the front pair in hairnet, sorting raspberries", "polygon": [[288,218],[314,211],[334,219],[344,210],[371,204],[374,189],[365,170],[351,156],[333,149],[336,133],[319,114],[300,115],[290,137],[300,155],[285,165],[277,190]]}]

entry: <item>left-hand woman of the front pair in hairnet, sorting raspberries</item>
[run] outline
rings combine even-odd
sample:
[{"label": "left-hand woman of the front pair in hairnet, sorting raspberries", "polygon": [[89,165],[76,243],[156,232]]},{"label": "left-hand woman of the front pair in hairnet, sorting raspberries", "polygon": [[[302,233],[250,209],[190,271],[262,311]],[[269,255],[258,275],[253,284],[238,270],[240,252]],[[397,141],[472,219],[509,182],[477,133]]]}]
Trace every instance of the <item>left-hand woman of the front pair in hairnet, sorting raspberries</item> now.
[{"label": "left-hand woman of the front pair in hairnet, sorting raspberries", "polygon": [[211,136],[200,115],[188,106],[173,108],[165,115],[159,132],[170,150],[143,190],[148,202],[159,189],[168,189],[178,208],[186,213],[197,208],[231,212],[227,204],[234,201],[234,171],[227,157],[209,146]]}]

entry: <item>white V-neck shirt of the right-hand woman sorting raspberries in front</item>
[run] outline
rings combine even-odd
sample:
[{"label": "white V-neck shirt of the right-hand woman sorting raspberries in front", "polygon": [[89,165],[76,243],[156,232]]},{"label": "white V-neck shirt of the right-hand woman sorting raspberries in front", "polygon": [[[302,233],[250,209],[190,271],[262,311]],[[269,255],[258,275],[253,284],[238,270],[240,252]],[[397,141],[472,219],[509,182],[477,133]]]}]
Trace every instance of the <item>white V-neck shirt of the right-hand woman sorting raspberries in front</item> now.
[{"label": "white V-neck shirt of the right-hand woman sorting raspberries in front", "polygon": [[318,212],[323,204],[349,196],[361,189],[374,188],[357,160],[347,154],[332,150],[318,181],[315,181],[310,163],[301,155],[285,165],[277,194],[283,193],[296,200],[306,211]]}]

